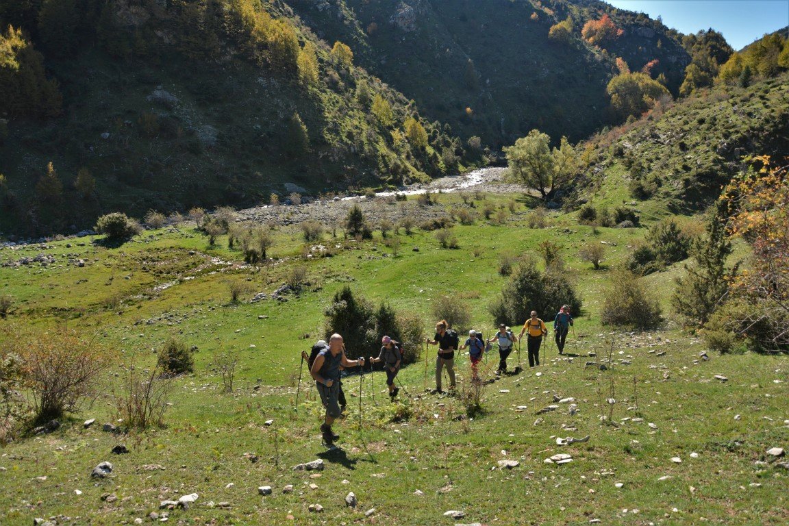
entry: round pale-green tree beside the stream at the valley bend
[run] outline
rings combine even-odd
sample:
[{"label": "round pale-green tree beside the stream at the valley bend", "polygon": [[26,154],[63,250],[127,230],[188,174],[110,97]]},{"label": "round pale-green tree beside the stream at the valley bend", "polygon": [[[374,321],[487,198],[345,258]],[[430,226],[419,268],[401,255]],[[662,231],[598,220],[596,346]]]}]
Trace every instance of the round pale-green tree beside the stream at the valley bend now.
[{"label": "round pale-green tree beside the stream at the valley bend", "polygon": [[544,201],[551,200],[556,190],[573,179],[578,172],[578,156],[562,137],[559,148],[551,151],[548,134],[533,129],[528,136],[504,147],[510,173],[529,188],[540,192]]}]

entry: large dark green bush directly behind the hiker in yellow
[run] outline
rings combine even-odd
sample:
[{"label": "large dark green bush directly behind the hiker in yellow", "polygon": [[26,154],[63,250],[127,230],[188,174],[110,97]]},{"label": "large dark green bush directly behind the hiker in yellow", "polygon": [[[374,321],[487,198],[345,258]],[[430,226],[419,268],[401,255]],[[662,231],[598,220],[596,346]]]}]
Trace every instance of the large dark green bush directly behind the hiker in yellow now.
[{"label": "large dark green bush directly behind the hiker in yellow", "polygon": [[540,272],[533,261],[518,262],[504,285],[501,296],[493,301],[488,311],[496,325],[522,325],[531,311],[548,317],[559,311],[563,304],[570,305],[574,315],[581,314],[581,297],[563,272]]}]

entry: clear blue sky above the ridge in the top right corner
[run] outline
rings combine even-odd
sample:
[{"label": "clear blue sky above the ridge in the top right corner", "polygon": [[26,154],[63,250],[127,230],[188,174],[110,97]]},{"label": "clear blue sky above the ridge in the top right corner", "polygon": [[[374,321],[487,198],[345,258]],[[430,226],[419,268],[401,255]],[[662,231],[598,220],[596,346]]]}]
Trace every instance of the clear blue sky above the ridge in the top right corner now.
[{"label": "clear blue sky above the ridge in the top right corner", "polygon": [[721,32],[740,50],[789,25],[789,0],[605,0],[611,6],[650,18],[663,18],[669,28],[689,34],[701,29]]}]

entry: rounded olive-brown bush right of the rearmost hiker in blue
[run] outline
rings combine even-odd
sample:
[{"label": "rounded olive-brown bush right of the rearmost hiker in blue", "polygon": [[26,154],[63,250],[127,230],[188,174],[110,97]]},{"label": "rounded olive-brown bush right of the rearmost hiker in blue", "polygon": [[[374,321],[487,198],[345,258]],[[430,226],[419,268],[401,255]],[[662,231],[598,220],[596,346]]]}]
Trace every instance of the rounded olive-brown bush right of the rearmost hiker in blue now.
[{"label": "rounded olive-brown bush right of the rearmost hiker in blue", "polygon": [[620,269],[604,293],[600,321],[604,325],[652,329],[660,325],[660,303],[636,274]]}]

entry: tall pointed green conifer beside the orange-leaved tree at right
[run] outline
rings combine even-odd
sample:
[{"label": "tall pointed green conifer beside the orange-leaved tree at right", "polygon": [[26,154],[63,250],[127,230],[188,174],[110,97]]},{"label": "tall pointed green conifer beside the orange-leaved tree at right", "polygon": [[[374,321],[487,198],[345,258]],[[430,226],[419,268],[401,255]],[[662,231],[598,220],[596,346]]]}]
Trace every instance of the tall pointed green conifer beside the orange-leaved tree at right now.
[{"label": "tall pointed green conifer beside the orange-leaved tree at right", "polygon": [[697,238],[690,251],[693,265],[685,265],[686,275],[675,279],[677,288],[671,297],[675,311],[694,325],[704,325],[723,304],[729,283],[737,274],[738,266],[726,267],[731,255],[731,241],[727,237],[724,207],[719,202],[716,214],[707,223],[707,235]]}]

